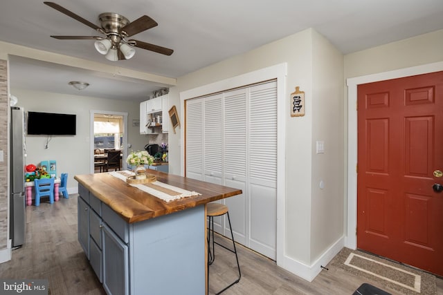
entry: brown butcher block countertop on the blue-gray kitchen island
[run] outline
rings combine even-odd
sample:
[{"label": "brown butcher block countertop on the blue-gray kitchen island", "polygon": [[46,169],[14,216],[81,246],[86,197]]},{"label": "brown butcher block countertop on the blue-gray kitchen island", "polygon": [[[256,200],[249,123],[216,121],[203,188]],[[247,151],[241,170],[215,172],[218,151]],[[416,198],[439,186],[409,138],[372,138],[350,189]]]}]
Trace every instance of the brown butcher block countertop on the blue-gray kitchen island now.
[{"label": "brown butcher block countertop on the blue-gray kitchen island", "polygon": [[241,189],[233,189],[151,169],[147,169],[147,171],[156,175],[160,182],[188,191],[197,191],[201,195],[165,202],[108,173],[75,175],[74,179],[128,223],[156,218],[242,193]]}]

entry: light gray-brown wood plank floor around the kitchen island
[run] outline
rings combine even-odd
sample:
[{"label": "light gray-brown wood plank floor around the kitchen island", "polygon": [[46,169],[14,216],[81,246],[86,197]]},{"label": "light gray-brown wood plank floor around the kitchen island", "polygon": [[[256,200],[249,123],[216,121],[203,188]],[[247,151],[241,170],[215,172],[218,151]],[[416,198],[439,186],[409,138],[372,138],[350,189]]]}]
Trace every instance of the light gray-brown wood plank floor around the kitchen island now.
[{"label": "light gray-brown wood plank floor around the kitchen island", "polygon": [[[12,251],[12,260],[0,264],[0,277],[47,278],[53,295],[105,294],[77,240],[77,195],[52,205],[42,202],[39,207],[26,207],[26,215],[26,245]],[[242,279],[223,293],[226,295],[352,294],[362,283],[383,288],[333,267],[309,283],[241,245],[237,251]],[[210,266],[210,294],[234,280],[235,270],[234,255],[217,247],[215,263]],[[443,295],[442,279],[437,279],[437,294]]]}]

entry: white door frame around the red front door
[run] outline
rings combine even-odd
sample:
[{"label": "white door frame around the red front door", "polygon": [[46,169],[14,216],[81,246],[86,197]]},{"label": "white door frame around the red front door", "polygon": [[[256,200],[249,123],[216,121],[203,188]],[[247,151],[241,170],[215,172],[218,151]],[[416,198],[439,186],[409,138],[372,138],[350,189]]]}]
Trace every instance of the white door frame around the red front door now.
[{"label": "white door frame around the red front door", "polygon": [[443,61],[346,79],[347,84],[347,225],[345,247],[356,249],[357,236],[357,86],[443,70]]}]

